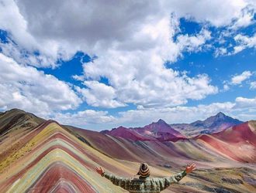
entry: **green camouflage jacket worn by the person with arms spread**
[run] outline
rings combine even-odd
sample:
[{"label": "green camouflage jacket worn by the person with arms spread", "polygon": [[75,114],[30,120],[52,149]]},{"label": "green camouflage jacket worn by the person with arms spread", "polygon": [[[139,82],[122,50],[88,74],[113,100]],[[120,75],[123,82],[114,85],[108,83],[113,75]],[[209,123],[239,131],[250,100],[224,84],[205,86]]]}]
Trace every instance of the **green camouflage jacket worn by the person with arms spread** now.
[{"label": "green camouflage jacket worn by the person with arms spread", "polygon": [[118,185],[131,193],[157,193],[168,188],[173,183],[178,183],[185,175],[185,171],[164,178],[119,178],[106,172],[102,174],[102,176],[112,181],[114,185]]}]

